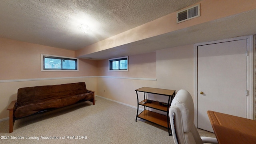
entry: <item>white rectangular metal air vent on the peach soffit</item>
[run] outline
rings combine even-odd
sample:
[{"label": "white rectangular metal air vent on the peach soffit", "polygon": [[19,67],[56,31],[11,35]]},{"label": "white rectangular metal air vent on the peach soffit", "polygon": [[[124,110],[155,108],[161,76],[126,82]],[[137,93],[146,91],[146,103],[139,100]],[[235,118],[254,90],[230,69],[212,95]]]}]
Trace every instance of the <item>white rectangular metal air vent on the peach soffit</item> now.
[{"label": "white rectangular metal air vent on the peach soffit", "polygon": [[200,4],[177,12],[177,24],[200,16]]}]

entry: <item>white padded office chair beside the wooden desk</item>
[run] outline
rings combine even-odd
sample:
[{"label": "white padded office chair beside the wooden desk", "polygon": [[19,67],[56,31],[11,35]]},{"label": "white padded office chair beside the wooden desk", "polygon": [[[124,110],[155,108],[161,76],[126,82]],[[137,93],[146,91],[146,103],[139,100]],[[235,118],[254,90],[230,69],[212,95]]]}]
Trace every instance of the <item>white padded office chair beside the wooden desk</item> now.
[{"label": "white padded office chair beside the wooden desk", "polygon": [[175,144],[218,144],[216,138],[200,137],[194,125],[194,103],[188,91],[177,92],[169,108],[169,117]]}]

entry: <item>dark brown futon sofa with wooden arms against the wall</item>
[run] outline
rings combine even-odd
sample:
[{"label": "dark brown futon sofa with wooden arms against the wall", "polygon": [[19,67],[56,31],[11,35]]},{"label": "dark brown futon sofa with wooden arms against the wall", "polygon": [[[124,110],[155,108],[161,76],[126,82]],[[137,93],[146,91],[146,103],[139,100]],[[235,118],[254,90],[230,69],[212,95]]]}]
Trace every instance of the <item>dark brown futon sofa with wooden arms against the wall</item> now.
[{"label": "dark brown futon sofa with wooden arms against the wall", "polygon": [[87,100],[95,104],[94,91],[87,90],[85,82],[19,88],[17,100],[7,109],[9,132],[13,132],[15,120]]}]

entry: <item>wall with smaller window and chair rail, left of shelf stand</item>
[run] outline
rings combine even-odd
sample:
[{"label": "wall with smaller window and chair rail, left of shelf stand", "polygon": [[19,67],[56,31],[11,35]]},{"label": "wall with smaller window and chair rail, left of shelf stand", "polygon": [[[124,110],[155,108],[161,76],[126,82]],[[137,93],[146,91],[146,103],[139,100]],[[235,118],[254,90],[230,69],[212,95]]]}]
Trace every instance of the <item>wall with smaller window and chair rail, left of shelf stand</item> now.
[{"label": "wall with smaller window and chair rail, left of shelf stand", "polygon": [[128,72],[108,72],[108,59],[98,61],[98,70],[98,96],[137,106],[134,90],[156,87],[156,52],[129,56]]}]

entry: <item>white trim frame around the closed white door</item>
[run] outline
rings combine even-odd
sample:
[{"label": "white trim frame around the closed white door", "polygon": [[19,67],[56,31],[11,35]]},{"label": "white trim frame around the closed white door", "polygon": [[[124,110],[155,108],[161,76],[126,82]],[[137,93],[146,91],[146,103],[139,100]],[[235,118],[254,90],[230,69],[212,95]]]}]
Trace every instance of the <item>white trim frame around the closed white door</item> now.
[{"label": "white trim frame around the closed white door", "polygon": [[[198,44],[194,44],[194,124],[197,127],[197,108],[198,108],[198,81],[197,81],[197,49],[198,46],[207,45],[207,44],[215,44],[221,42],[229,42],[234,40],[247,40],[247,114],[246,117],[249,119],[255,119],[255,106],[254,106],[254,36],[240,36],[236,38],[229,38],[225,40],[216,40],[212,42],[202,42]],[[246,93],[246,92],[245,92]]]}]

